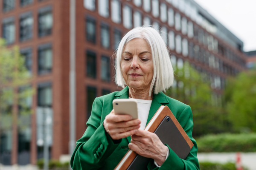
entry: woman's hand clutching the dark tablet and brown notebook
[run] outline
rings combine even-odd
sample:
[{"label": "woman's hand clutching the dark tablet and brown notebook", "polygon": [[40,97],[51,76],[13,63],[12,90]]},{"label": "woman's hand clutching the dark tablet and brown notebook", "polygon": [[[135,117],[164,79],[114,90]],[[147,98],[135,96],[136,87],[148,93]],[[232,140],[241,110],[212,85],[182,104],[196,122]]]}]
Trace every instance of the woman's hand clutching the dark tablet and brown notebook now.
[{"label": "woman's hand clutching the dark tablet and brown notebook", "polygon": [[137,129],[131,136],[128,147],[141,156],[154,159],[159,166],[166,160],[169,150],[155,133],[141,129]]}]

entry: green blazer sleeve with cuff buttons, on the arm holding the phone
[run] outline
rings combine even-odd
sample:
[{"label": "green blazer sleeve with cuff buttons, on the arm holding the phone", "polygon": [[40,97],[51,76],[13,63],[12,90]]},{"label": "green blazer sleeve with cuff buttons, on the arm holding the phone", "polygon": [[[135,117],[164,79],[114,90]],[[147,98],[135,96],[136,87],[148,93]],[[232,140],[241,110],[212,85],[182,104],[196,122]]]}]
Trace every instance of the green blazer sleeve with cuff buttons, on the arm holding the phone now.
[{"label": "green blazer sleeve with cuff buttons, on the arm holding the phone", "polygon": [[98,170],[104,166],[106,158],[116,149],[115,144],[105,132],[102,116],[102,102],[96,98],[84,135],[76,142],[76,148],[70,160],[73,170]]}]

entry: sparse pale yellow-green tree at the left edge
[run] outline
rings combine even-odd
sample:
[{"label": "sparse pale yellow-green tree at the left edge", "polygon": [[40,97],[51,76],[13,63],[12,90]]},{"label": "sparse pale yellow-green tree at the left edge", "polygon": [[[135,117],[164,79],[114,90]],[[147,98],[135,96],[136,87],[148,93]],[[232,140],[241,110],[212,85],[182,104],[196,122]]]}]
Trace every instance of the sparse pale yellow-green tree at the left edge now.
[{"label": "sparse pale yellow-green tree at the left edge", "polygon": [[[0,39],[0,140],[12,137],[13,124],[22,127],[20,120],[12,113],[12,106],[15,103],[19,106],[19,115],[32,113],[31,106],[27,102],[34,92],[28,86],[32,77],[24,62],[25,58],[20,55],[17,46],[7,48],[5,41]],[[3,141],[1,144],[0,141],[0,153],[11,149],[11,144],[8,142]]]}]

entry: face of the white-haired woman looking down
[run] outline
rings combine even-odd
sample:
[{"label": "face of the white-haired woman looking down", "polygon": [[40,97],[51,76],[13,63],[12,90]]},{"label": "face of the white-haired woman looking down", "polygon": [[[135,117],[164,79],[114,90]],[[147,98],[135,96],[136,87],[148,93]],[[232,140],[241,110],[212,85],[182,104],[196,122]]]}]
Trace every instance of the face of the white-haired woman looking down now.
[{"label": "face of the white-haired woman looking down", "polygon": [[153,79],[151,48],[144,39],[128,42],[122,52],[122,76],[131,88],[146,90]]}]

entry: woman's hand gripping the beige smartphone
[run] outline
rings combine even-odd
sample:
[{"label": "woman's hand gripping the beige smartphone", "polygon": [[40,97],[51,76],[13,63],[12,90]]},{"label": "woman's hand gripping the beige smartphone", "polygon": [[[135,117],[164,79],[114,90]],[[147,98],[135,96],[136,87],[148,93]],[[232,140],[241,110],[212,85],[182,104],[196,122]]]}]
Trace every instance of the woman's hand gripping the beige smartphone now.
[{"label": "woman's hand gripping the beige smartphone", "polygon": [[105,117],[103,125],[111,138],[118,140],[133,135],[140,128],[140,120],[132,120],[131,115],[128,114],[115,114],[112,110]]}]

